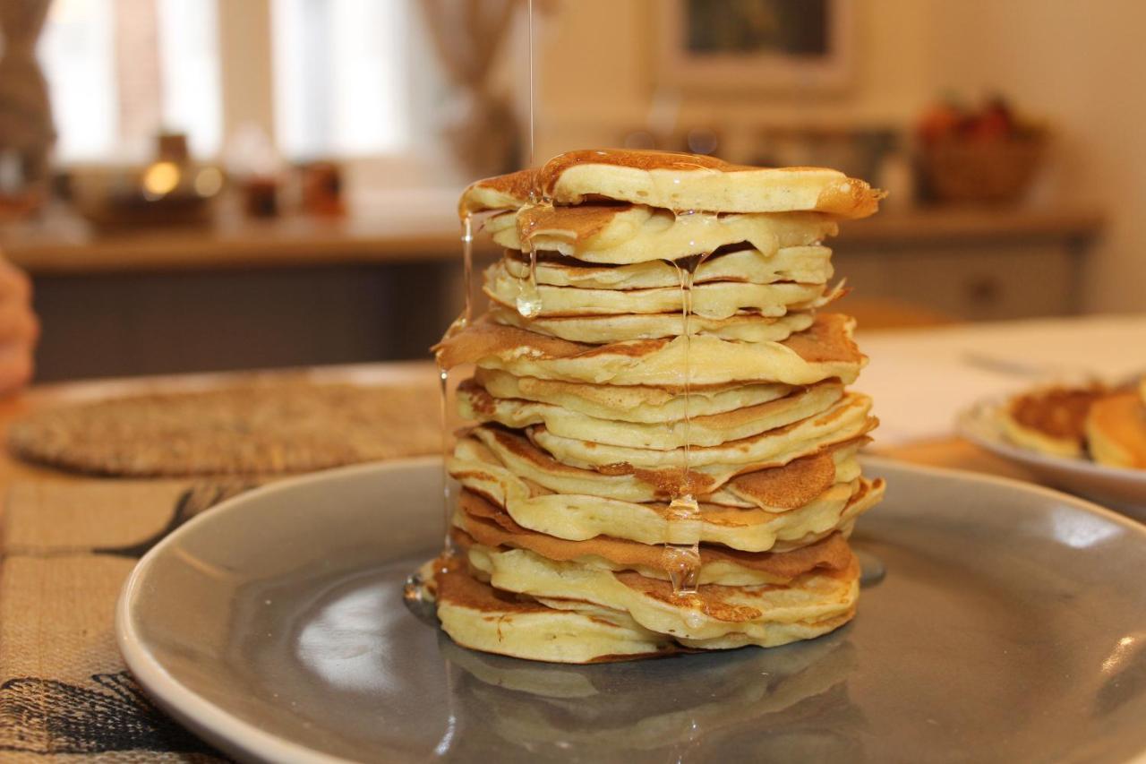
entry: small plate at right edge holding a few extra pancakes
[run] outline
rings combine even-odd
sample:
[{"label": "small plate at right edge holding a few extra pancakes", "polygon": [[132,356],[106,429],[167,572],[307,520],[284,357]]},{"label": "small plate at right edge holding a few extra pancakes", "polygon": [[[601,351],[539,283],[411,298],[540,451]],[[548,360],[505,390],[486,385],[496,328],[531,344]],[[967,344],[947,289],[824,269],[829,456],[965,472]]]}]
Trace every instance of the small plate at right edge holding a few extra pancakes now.
[{"label": "small plate at right edge holding a few extra pancakes", "polygon": [[1002,399],[983,400],[959,414],[959,434],[1004,459],[1026,467],[1051,485],[1093,499],[1146,521],[1146,470],[1107,467],[1086,459],[1052,457],[1011,443],[998,424]]}]

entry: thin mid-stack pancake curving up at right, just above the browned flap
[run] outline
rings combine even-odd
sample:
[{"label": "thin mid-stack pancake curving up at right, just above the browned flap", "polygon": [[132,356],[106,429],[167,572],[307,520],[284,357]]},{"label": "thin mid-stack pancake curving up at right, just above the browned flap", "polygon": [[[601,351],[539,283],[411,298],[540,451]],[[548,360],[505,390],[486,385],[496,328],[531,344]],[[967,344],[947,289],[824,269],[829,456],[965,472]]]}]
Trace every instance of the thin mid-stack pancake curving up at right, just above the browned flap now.
[{"label": "thin mid-stack pancake curving up at right, just above the browned flap", "polygon": [[[790,443],[802,441],[809,430],[816,428],[829,431],[843,430],[847,432],[847,438],[856,437],[863,435],[870,413],[871,398],[857,392],[848,392],[831,407],[810,414],[808,419],[795,423],[719,445],[692,446],[688,454],[689,469],[767,463],[774,459],[777,452],[785,450]],[[540,424],[529,427],[526,432],[531,441],[562,463],[571,467],[615,470],[618,466],[627,465],[633,468],[657,469],[666,462],[684,462],[683,449],[660,451],[568,438],[551,432]]]}]

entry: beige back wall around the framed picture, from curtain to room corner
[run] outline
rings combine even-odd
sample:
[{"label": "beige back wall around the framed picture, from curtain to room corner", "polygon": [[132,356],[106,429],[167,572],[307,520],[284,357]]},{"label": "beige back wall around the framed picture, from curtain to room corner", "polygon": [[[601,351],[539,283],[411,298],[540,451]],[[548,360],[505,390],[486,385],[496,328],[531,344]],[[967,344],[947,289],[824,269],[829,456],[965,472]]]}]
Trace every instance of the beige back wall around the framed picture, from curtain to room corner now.
[{"label": "beige back wall around the framed picture, from curtain to room corner", "polygon": [[537,24],[537,156],[615,145],[647,126],[654,95],[680,99],[682,126],[897,123],[931,96],[931,16],[917,0],[856,0],[856,67],[842,94],[741,88],[678,92],[656,78],[660,7],[672,0],[564,0]]}]

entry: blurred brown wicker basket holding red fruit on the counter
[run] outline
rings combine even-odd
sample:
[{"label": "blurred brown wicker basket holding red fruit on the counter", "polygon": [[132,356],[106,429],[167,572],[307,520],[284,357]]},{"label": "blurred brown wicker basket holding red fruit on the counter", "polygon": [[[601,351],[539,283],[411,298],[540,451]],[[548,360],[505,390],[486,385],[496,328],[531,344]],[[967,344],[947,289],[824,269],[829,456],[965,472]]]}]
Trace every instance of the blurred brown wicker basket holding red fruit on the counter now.
[{"label": "blurred brown wicker basket holding red fruit on the counter", "polygon": [[941,202],[1014,202],[1046,147],[1042,133],[998,140],[945,139],[923,148],[920,170]]}]

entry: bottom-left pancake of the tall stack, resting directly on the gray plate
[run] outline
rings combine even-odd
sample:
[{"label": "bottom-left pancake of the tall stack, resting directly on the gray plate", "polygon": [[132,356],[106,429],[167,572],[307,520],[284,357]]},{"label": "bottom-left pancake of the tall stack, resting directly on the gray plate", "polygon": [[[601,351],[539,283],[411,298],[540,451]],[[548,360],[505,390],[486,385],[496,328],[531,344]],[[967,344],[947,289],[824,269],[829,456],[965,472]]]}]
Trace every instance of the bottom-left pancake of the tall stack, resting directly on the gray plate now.
[{"label": "bottom-left pancake of the tall stack, resting directly on the gray plate", "polygon": [[[584,603],[558,610],[528,598],[499,592],[471,577],[460,560],[445,570],[427,566],[435,583],[438,618],[458,645],[488,653],[552,663],[596,663],[681,652],[665,634],[630,616]],[[438,570],[434,570],[434,569]]]}]

